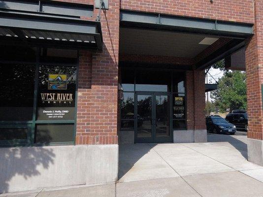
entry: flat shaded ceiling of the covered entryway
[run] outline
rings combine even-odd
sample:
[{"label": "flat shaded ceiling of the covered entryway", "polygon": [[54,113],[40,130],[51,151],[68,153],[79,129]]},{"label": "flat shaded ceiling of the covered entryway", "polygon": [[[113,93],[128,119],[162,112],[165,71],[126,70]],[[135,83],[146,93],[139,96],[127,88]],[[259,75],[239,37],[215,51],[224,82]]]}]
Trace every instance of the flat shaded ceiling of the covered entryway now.
[{"label": "flat shaded ceiling of the covered entryway", "polygon": [[210,35],[120,28],[120,54],[194,58],[209,45],[199,44]]}]

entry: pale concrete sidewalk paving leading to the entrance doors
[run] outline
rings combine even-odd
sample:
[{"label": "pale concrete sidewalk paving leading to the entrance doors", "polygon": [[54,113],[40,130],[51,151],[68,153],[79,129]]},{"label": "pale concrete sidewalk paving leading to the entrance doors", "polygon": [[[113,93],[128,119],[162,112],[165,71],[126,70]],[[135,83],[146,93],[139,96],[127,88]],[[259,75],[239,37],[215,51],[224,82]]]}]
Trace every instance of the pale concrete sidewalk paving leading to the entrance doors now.
[{"label": "pale concrete sidewalk paving leading to the entrance doors", "polygon": [[207,138],[208,143],[120,145],[117,184],[19,197],[263,197],[263,166],[247,161],[246,135]]}]

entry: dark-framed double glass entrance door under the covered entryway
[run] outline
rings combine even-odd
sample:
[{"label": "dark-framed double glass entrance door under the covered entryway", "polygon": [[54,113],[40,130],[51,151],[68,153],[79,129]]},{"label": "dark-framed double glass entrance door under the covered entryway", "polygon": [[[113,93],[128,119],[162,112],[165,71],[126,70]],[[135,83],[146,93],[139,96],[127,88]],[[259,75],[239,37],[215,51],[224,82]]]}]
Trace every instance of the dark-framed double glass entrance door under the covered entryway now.
[{"label": "dark-framed double glass entrance door under the covered entryway", "polygon": [[171,142],[168,93],[135,93],[135,143]]}]

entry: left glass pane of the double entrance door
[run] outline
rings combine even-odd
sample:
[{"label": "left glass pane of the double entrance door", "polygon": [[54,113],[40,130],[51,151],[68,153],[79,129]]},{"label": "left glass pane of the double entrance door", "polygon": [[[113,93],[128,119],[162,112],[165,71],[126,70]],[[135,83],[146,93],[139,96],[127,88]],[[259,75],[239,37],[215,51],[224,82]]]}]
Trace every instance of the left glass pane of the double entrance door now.
[{"label": "left glass pane of the double entrance door", "polygon": [[152,96],[137,96],[137,137],[152,137]]}]

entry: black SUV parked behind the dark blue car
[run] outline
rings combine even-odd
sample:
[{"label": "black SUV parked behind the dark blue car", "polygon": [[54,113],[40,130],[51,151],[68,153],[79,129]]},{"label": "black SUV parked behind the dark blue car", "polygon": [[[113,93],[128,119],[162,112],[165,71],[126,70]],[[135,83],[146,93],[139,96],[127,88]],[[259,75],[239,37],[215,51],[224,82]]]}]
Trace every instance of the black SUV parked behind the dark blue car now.
[{"label": "black SUV parked behind the dark blue car", "polygon": [[247,131],[248,129],[247,112],[244,110],[233,110],[227,115],[226,120],[235,125],[237,130]]}]

